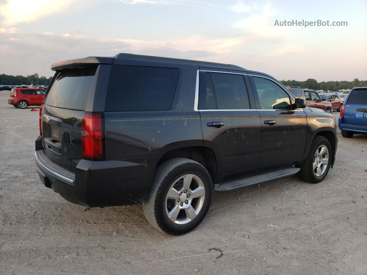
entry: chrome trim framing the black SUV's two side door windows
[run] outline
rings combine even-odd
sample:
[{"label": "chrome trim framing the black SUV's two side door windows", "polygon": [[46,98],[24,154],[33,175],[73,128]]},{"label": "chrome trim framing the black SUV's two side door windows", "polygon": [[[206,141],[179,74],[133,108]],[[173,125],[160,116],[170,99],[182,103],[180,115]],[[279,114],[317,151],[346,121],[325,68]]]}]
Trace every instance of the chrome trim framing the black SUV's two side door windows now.
[{"label": "chrome trim framing the black SUV's two side door windows", "polygon": [[[196,71],[196,85],[195,85],[195,100],[194,100],[194,111],[196,112],[211,112],[211,111],[302,111],[303,109],[295,109],[295,110],[273,110],[273,109],[203,109],[200,110],[198,109],[199,106],[199,78],[200,78],[200,72],[210,72],[210,73],[226,73],[226,74],[240,74],[240,75],[246,75],[246,76],[257,76],[254,74],[247,74],[247,73],[232,73],[232,72],[221,72],[221,71],[212,71],[212,70],[197,70]],[[277,83],[276,81],[274,81],[271,78],[268,77],[263,77],[263,76],[257,76],[257,77],[262,77],[262,78],[266,78],[269,79],[271,81],[273,81],[275,84],[279,85],[279,83]],[[282,84],[283,85],[283,84]],[[281,87],[283,88],[283,87]],[[284,89],[284,88],[283,88]],[[290,95],[294,100],[295,97],[290,94],[290,92],[286,89],[284,90],[288,95]]]}]

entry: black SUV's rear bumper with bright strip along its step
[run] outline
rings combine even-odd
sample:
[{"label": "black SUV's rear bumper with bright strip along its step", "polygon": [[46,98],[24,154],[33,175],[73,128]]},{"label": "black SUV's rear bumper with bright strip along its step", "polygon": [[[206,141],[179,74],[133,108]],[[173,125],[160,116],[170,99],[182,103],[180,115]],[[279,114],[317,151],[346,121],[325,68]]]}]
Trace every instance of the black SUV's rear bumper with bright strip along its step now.
[{"label": "black SUV's rear bumper with bright strip along its step", "polygon": [[81,159],[73,173],[53,162],[40,142],[38,138],[35,152],[40,180],[67,201],[89,207],[131,205],[142,203],[149,193],[155,169],[145,167],[144,160]]}]

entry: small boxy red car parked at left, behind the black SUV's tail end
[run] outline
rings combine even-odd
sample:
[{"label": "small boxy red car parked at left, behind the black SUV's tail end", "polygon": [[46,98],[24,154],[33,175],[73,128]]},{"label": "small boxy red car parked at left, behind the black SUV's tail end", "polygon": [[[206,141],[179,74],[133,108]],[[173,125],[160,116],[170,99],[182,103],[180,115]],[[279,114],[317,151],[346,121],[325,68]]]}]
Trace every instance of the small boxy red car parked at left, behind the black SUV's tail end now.
[{"label": "small boxy red car parked at left, behind the black SUV's tail end", "polygon": [[29,105],[41,106],[46,91],[32,88],[12,88],[8,103],[20,109],[26,109]]}]

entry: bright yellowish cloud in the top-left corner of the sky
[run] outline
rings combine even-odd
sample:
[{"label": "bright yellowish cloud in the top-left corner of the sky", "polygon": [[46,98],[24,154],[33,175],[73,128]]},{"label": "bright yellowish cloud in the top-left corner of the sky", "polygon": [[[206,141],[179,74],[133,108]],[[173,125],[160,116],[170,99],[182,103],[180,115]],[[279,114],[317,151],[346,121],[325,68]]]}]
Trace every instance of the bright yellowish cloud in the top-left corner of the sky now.
[{"label": "bright yellowish cloud in the top-left corner of the sky", "polygon": [[75,0],[7,0],[0,5],[5,25],[36,21],[40,17],[61,12]]}]

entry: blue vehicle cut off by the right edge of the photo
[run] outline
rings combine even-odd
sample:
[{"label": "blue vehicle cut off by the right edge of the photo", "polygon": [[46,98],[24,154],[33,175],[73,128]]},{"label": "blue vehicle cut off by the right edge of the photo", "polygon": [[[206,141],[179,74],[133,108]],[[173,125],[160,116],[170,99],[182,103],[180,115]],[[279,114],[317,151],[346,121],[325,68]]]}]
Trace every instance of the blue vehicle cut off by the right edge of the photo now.
[{"label": "blue vehicle cut off by the right edge of the photo", "polygon": [[367,133],[367,87],[353,88],[341,107],[339,129],[343,137]]}]

